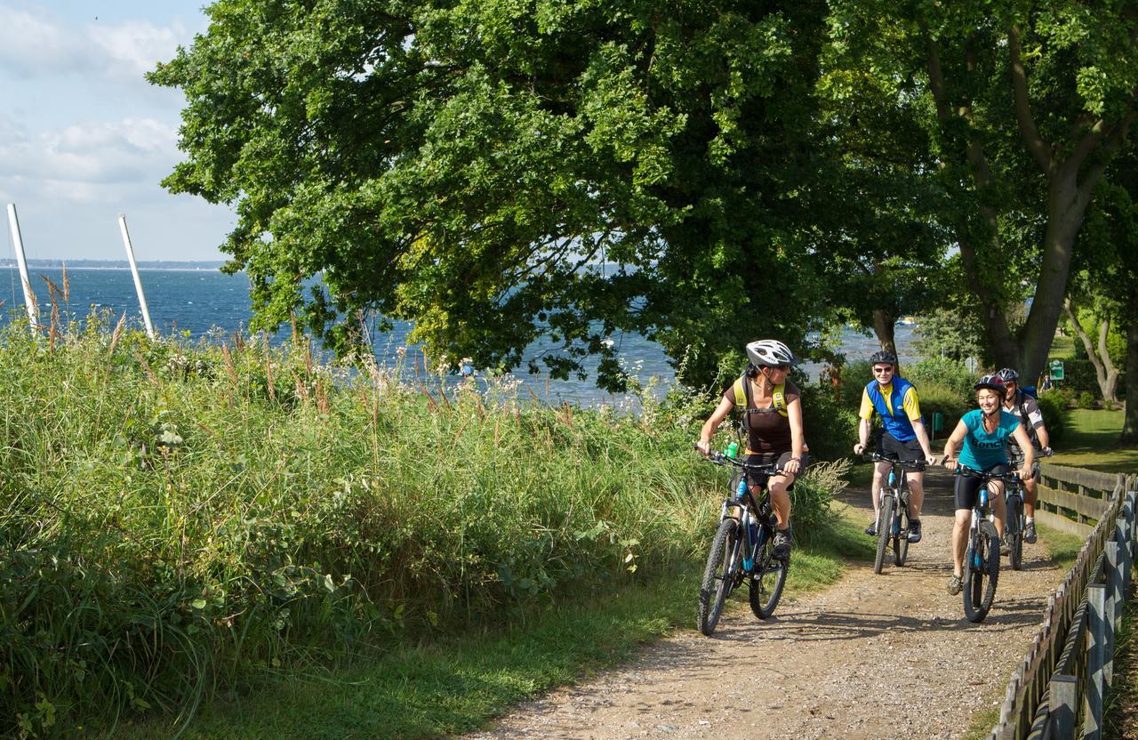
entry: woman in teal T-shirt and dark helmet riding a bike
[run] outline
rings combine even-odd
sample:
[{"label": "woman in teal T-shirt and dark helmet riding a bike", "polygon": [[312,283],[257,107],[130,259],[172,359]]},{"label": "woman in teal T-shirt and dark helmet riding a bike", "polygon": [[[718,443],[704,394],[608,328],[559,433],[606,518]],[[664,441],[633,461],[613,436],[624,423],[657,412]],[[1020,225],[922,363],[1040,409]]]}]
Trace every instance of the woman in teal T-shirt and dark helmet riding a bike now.
[{"label": "woman in teal T-shirt and dark helmet riding a bike", "polygon": [[[953,435],[945,443],[945,467],[951,468],[957,460],[954,457],[960,447],[959,464],[982,472],[1008,471],[1007,441],[1008,437],[1020,444],[1024,451],[1021,478],[1031,475],[1031,466],[1036,459],[1034,447],[1024,431],[1023,425],[1015,414],[1004,410],[1004,379],[999,376],[984,376],[973,386],[976,390],[979,409],[964,414]],[[980,478],[971,476],[956,477],[956,523],[953,526],[953,577],[948,581],[948,592],[957,594],[963,587],[964,551],[967,549],[968,527],[972,524],[972,507],[980,491]],[[1004,536],[1004,484],[999,480],[988,483],[988,500],[992,503],[996,515],[996,532]]]}]

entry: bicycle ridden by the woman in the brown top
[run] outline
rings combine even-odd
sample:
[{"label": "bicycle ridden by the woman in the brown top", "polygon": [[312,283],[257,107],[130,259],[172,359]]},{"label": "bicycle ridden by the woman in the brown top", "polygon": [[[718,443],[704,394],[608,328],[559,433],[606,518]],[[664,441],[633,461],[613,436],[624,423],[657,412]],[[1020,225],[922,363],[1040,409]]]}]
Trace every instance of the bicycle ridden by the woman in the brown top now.
[{"label": "bicycle ridden by the woman in the brown top", "polygon": [[[765,479],[780,472],[774,464],[751,464],[712,452],[709,460],[718,466],[732,464],[731,494],[723,502],[719,525],[708,552],[696,627],[706,635],[715,632],[727,597],[748,581],[751,611],[759,619],[774,614],[786,583],[789,561],[775,557],[775,516],[770,508]],[[756,501],[747,485],[747,472],[758,474],[764,483]]]}]

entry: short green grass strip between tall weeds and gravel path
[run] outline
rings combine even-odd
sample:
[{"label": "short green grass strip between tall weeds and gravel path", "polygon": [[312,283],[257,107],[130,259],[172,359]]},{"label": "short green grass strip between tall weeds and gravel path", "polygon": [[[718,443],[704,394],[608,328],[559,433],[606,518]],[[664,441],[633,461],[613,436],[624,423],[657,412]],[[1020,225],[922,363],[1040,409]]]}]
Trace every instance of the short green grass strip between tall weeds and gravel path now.
[{"label": "short green grass strip between tall weeds and gravel path", "polygon": [[[849,559],[872,559],[867,538],[844,516],[847,507],[836,509],[825,533],[795,549],[787,594],[834,583]],[[476,730],[520,701],[626,663],[674,628],[691,628],[698,590],[692,566],[676,577],[551,608],[521,627],[403,646],[341,671],[282,675],[247,697],[214,702],[180,737],[418,740]],[[736,618],[750,618],[739,597],[732,609]],[[172,740],[179,729],[163,718],[124,726],[114,737]]]}]

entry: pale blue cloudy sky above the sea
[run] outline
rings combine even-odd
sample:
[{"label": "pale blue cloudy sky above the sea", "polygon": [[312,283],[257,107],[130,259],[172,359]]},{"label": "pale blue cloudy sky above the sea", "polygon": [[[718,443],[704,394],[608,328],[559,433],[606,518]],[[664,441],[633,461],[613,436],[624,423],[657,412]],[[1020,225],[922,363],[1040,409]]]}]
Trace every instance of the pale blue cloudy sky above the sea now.
[{"label": "pale blue cloudy sky above the sea", "polygon": [[[223,260],[225,205],[159,184],[184,97],[143,74],[204,33],[207,0],[0,0],[0,206],[28,260]],[[0,258],[14,257],[8,217]]]}]

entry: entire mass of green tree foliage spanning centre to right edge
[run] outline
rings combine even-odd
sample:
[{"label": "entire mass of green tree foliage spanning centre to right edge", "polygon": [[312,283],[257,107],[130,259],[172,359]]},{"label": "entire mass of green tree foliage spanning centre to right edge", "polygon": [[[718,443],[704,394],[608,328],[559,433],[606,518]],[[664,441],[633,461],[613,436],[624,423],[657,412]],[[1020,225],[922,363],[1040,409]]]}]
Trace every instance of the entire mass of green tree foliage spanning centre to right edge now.
[{"label": "entire mass of green tree foliage spanning centre to right edge", "polygon": [[207,13],[150,74],[187,96],[165,186],[236,206],[255,327],[297,315],[344,351],[374,312],[503,369],[545,337],[555,377],[596,354],[610,388],[619,331],[688,381],[757,336],[852,320],[888,344],[949,295],[950,246],[997,361],[1031,375],[1138,89],[1122,1]]}]

